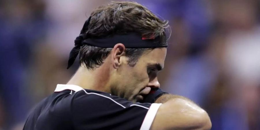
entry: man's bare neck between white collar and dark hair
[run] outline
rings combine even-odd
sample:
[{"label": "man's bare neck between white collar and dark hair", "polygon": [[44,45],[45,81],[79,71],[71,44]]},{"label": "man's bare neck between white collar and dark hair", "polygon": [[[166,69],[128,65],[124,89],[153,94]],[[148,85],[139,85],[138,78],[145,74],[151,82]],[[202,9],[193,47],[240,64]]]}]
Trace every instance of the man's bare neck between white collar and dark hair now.
[{"label": "man's bare neck between white collar and dark hair", "polygon": [[108,72],[109,68],[103,65],[95,68],[95,70],[88,70],[82,65],[67,84],[74,84],[84,89],[111,93]]}]

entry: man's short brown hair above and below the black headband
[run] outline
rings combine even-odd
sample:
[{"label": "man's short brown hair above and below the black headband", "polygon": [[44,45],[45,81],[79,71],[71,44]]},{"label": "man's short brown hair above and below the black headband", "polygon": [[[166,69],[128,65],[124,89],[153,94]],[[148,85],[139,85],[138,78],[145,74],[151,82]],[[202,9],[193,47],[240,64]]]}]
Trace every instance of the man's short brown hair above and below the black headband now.
[{"label": "man's short brown hair above and below the black headband", "polygon": [[[90,37],[105,37],[114,34],[135,32],[142,36],[151,35],[165,37],[168,21],[162,21],[150,10],[136,2],[112,2],[96,8],[91,13],[91,20],[86,33]],[[130,66],[134,66],[144,50],[151,48],[127,48],[126,56]],[[103,64],[112,48],[101,48],[89,45],[81,47],[80,63],[88,69],[94,69]]]}]

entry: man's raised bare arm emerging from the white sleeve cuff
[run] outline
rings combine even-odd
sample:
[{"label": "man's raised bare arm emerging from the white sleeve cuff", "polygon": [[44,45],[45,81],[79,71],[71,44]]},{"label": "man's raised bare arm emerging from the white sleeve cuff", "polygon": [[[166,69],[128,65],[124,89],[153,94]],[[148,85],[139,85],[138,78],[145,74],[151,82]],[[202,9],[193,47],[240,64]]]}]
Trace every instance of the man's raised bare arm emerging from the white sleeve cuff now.
[{"label": "man's raised bare arm emerging from the white sleeve cuff", "polygon": [[155,103],[162,103],[162,105],[153,120],[151,130],[211,129],[211,121],[207,112],[183,96],[164,94]]}]

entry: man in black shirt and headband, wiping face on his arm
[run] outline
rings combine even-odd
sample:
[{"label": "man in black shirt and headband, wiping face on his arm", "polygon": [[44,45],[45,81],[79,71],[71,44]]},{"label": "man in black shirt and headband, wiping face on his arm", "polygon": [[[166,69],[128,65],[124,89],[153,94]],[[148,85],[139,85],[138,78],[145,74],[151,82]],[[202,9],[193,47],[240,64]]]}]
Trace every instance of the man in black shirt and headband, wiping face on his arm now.
[{"label": "man in black shirt and headband, wiping face on his arm", "polygon": [[70,52],[68,68],[78,53],[81,66],[36,106],[24,129],[210,129],[203,109],[159,89],[167,27],[135,2],[94,10]]}]

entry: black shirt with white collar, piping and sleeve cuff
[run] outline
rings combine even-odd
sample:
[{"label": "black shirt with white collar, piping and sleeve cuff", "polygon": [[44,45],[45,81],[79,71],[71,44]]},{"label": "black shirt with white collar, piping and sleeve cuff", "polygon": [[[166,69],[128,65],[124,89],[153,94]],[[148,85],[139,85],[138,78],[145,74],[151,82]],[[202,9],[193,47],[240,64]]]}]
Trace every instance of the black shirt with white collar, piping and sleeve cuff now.
[{"label": "black shirt with white collar, piping and sleeve cuff", "polygon": [[29,114],[23,130],[148,130],[160,105],[58,84]]}]

